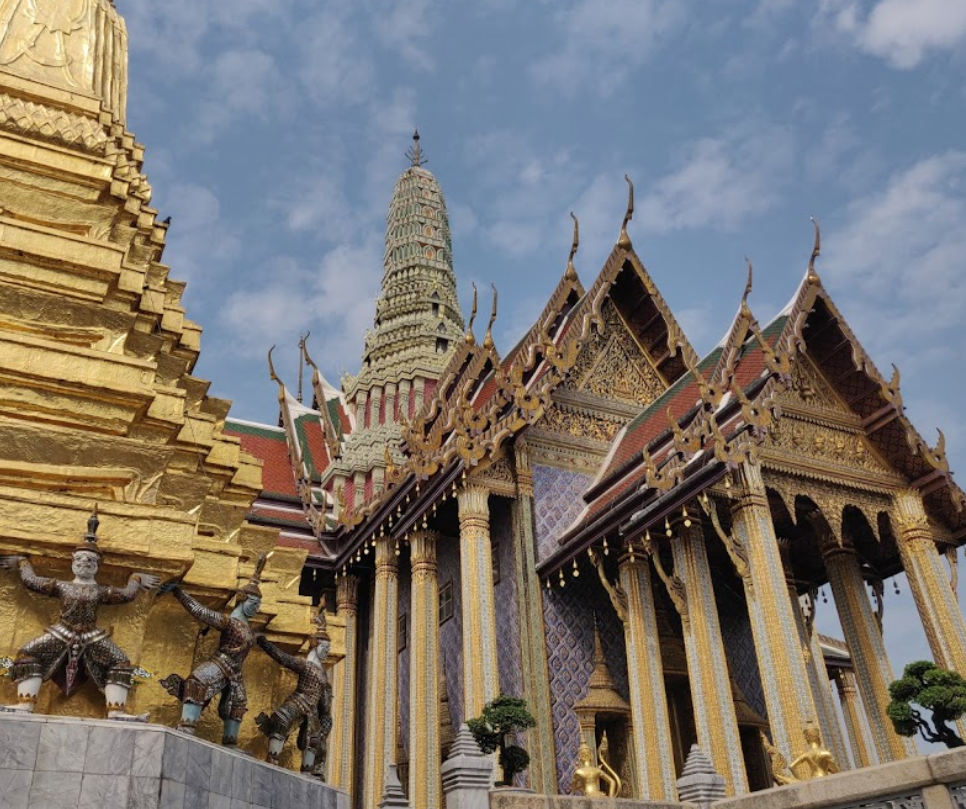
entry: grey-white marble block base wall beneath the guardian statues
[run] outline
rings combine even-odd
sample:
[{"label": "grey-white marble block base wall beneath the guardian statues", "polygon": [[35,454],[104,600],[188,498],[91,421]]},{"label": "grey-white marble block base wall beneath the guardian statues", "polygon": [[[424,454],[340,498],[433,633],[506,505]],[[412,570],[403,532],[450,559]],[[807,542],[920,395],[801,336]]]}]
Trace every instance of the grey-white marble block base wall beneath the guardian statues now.
[{"label": "grey-white marble block base wall beneath the guardian statues", "polygon": [[283,807],[349,796],[158,725],[0,714],[0,809]]}]

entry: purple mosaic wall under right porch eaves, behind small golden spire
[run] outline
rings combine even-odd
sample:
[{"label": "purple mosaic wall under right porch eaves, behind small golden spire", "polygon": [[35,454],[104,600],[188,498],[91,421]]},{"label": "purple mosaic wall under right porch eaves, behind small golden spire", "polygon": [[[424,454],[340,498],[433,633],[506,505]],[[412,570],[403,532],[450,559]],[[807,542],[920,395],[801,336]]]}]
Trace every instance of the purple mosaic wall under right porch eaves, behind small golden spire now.
[{"label": "purple mosaic wall under right porch eaves, behind small golden spire", "polygon": [[625,699],[629,699],[627,650],[623,624],[593,571],[584,567],[579,578],[567,578],[565,588],[554,587],[542,592],[557,782],[560,792],[567,794],[580,746],[580,725],[574,705],[586,696],[587,683],[594,670],[595,611],[604,657],[614,685]]}]

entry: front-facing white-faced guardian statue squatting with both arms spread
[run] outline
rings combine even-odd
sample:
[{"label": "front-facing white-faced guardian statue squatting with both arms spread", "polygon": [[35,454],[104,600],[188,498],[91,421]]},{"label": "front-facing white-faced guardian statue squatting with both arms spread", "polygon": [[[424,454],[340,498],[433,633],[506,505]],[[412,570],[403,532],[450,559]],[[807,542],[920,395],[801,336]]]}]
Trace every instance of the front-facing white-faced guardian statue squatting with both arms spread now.
[{"label": "front-facing white-faced guardian statue squatting with both arms spread", "polygon": [[[106,587],[95,581],[101,552],[97,547],[97,509],[87,521],[84,542],[74,550],[73,581],[49,579],[34,573],[26,556],[2,556],[0,568],[18,569],[24,586],[35,593],[60,599],[60,618],[47,631],[30,641],[17,655],[12,675],[17,682],[17,704],[6,710],[31,713],[40,686],[53,680],[65,695],[74,694],[88,679],[105,695],[107,715],[112,719],[134,719],[125,713],[134,666],[97,626],[102,604],[127,604],[143,590],[155,590],[157,576],[135,573],[125,587]],[[145,717],[146,718],[146,717]]]}]

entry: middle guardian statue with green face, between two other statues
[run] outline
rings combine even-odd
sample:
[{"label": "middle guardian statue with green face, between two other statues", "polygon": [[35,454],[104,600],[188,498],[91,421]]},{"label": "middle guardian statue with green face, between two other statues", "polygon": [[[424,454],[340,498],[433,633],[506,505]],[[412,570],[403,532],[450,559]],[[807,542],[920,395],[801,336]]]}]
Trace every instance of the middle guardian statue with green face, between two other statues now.
[{"label": "middle guardian statue with green face, between two other statues", "polygon": [[235,609],[230,615],[222,615],[209,609],[189,596],[177,583],[166,584],[161,588],[163,592],[173,592],[174,597],[192,618],[221,633],[217,651],[195,667],[188,679],[170,674],[161,680],[165,690],[181,702],[181,722],[178,729],[185,733],[194,734],[201,712],[216,694],[221,694],[218,703],[218,715],[224,723],[221,743],[229,747],[238,744],[238,730],[248,710],[242,664],[255,645],[255,633],[248,622],[255,617],[262,605],[259,584],[267,560],[264,553],[258,557],[255,575],[238,591]]}]

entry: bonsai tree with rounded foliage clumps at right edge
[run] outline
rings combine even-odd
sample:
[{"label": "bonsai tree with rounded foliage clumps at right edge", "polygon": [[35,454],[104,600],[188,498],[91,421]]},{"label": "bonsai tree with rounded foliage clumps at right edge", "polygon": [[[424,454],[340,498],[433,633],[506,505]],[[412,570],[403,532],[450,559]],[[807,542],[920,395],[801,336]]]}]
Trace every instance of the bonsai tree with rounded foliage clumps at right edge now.
[{"label": "bonsai tree with rounded foliage clumps at right edge", "polygon": [[[889,696],[892,702],[886,713],[900,736],[915,736],[918,730],[927,742],[963,747],[963,740],[948,724],[966,713],[966,680],[961,675],[918,660],[889,686]],[[932,724],[913,705],[932,711]]]}]

